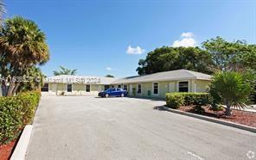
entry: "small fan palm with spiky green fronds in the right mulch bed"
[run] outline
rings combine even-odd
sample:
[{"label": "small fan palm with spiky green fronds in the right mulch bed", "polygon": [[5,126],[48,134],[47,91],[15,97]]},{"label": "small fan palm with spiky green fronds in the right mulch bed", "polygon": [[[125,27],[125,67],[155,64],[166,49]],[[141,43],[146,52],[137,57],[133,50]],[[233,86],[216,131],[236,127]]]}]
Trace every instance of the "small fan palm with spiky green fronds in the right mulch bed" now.
[{"label": "small fan palm with spiky green fronds in the right mulch bed", "polygon": [[223,103],[227,106],[226,115],[232,114],[232,107],[246,108],[251,87],[241,73],[234,71],[218,72],[212,78],[209,87],[214,102]]}]

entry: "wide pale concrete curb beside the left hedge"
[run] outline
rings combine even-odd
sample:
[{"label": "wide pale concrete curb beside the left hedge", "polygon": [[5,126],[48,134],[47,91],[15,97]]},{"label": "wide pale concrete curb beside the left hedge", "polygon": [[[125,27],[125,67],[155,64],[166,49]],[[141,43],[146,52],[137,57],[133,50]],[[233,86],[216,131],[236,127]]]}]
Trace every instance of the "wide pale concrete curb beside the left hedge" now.
[{"label": "wide pale concrete curb beside the left hedge", "polygon": [[10,157],[10,160],[23,160],[25,158],[28,146],[29,139],[32,133],[32,125],[26,125],[22,131],[22,136],[19,139],[18,144],[16,145],[15,151]]}]

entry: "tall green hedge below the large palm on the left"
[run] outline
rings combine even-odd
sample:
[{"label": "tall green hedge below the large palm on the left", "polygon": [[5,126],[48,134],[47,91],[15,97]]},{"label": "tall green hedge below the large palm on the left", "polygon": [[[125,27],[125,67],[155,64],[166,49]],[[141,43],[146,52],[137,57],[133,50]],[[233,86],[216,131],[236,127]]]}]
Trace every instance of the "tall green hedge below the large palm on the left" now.
[{"label": "tall green hedge below the large palm on the left", "polygon": [[0,144],[7,143],[29,124],[40,101],[38,91],[0,97]]}]

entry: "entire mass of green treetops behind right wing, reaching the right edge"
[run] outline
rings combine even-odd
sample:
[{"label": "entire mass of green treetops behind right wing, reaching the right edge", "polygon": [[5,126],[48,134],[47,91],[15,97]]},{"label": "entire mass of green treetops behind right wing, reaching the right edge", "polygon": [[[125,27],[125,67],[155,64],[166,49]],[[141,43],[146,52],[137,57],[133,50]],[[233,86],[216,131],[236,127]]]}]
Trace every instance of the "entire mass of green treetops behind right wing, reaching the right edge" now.
[{"label": "entire mass of green treetops behind right wing, reaching the right edge", "polygon": [[163,46],[138,61],[138,75],[187,69],[213,74],[217,71],[256,71],[256,45],[245,40],[228,42],[221,37],[206,40],[202,47]]}]

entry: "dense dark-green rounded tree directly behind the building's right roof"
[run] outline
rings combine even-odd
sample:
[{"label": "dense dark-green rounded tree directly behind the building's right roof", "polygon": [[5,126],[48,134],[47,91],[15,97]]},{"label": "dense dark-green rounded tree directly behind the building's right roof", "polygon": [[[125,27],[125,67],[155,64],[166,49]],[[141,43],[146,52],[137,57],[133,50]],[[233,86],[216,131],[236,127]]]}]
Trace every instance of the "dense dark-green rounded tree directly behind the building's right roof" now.
[{"label": "dense dark-green rounded tree directly behind the building's right roof", "polygon": [[179,69],[213,72],[210,54],[199,47],[163,46],[149,52],[145,59],[139,59],[138,65],[139,75]]}]

